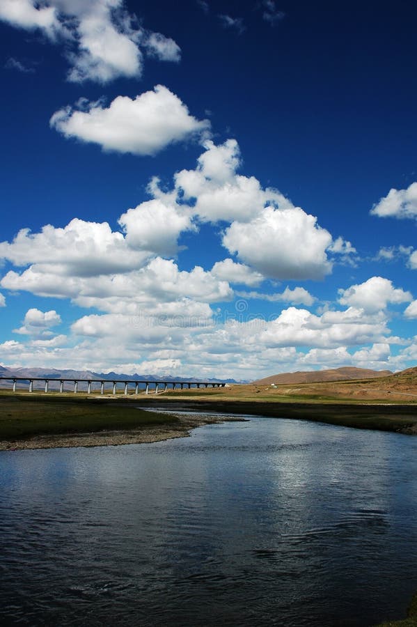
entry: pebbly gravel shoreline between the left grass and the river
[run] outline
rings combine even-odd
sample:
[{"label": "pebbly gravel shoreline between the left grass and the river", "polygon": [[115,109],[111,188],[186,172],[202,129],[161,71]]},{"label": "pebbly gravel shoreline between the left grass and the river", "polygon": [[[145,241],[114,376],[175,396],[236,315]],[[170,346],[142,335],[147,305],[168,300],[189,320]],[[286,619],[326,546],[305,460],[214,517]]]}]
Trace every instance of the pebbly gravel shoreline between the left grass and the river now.
[{"label": "pebbly gravel shoreline between the left grass and the river", "polygon": [[[169,412],[171,413],[171,412]],[[206,424],[221,424],[222,422],[242,422],[241,417],[216,416],[198,414],[176,414],[175,424],[161,424],[157,426],[141,426],[134,429],[120,429],[108,431],[93,431],[91,433],[62,433],[57,435],[33,435],[25,440],[0,441],[0,451],[24,451],[28,449],[61,449],[72,447],[114,447],[123,444],[145,444],[172,440],[173,438],[187,438],[192,429]]]}]

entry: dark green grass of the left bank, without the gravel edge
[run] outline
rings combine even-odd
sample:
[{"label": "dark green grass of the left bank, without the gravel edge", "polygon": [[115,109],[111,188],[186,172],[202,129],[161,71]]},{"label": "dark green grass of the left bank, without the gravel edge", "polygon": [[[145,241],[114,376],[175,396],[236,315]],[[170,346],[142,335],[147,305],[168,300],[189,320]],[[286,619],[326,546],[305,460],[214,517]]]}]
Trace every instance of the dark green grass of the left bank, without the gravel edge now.
[{"label": "dark green grass of the left bank, without the gravel edge", "polygon": [[[81,396],[81,395],[80,395]],[[172,424],[173,416],[136,409],[130,403],[69,398],[60,395],[0,393],[0,440],[19,440],[31,435],[86,433]]]}]

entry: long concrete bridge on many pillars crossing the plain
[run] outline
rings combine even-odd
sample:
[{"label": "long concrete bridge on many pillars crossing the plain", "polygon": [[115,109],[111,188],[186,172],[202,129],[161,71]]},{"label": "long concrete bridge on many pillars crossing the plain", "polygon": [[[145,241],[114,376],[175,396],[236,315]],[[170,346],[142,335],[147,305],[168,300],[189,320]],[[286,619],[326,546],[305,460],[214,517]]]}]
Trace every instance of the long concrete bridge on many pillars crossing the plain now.
[{"label": "long concrete bridge on many pillars crossing the plain", "polygon": [[[13,392],[17,392],[18,383],[21,384],[19,389],[28,389],[28,386],[29,386],[29,392],[33,392],[33,382],[42,381],[43,383],[45,383],[45,394],[49,392],[49,385],[52,382],[59,383],[59,392],[61,393],[64,391],[64,384],[70,383],[70,385],[74,386],[73,387],[74,394],[77,394],[77,392],[79,392],[79,389],[78,389],[79,383],[87,384],[86,386],[87,394],[92,394],[93,386],[97,386],[96,389],[100,389],[100,394],[104,394],[104,386],[106,384],[112,385],[113,395],[116,394],[117,386],[118,384],[120,384],[124,386],[123,393],[125,396],[127,396],[128,394],[129,386],[131,387],[131,389],[134,386],[134,394],[136,395],[139,394],[139,389],[145,389],[145,394],[149,394],[150,390],[154,389],[154,387],[155,387],[155,394],[158,394],[159,392],[166,392],[170,385],[172,386],[172,389],[176,389],[176,388],[184,389],[184,387],[191,389],[191,387],[199,388],[199,387],[225,387],[226,386],[226,383],[212,383],[212,382],[207,382],[207,381],[199,381],[199,382],[164,381],[163,379],[159,381],[142,381],[142,380],[125,381],[121,379],[102,380],[102,379],[66,379],[66,378],[52,378],[52,377],[30,377],[30,378],[29,377],[0,377],[0,381],[10,381],[10,387],[13,389]],[[100,386],[100,388],[98,388],[98,386]]]}]

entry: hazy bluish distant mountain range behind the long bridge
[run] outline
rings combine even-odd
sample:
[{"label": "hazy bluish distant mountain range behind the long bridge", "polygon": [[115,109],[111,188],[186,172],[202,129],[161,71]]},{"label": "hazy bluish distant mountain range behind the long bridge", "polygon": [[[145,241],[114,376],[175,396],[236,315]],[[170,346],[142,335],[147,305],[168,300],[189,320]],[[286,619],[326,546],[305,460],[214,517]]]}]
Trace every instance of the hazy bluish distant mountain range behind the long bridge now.
[{"label": "hazy bluish distant mountain range behind the long bridge", "polygon": [[[0,366],[0,377],[19,378],[49,378],[49,379],[91,379],[92,381],[178,381],[198,383],[205,381],[210,383],[243,383],[247,381],[236,381],[235,379],[216,378],[196,378],[196,377],[176,377],[171,375],[138,374],[127,375],[116,372],[97,373],[91,370],[60,370],[55,368],[8,368]],[[0,382],[0,385],[3,382]],[[4,386],[1,386],[4,387]]]}]

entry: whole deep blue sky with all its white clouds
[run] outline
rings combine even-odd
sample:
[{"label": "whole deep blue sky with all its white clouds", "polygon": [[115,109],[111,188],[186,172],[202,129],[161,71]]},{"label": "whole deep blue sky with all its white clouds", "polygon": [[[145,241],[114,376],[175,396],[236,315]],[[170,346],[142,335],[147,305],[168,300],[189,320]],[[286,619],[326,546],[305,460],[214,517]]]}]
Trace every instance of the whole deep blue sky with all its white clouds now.
[{"label": "whole deep blue sky with all its white clouds", "polygon": [[3,0],[1,364],[414,366],[416,17]]}]

